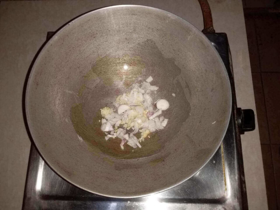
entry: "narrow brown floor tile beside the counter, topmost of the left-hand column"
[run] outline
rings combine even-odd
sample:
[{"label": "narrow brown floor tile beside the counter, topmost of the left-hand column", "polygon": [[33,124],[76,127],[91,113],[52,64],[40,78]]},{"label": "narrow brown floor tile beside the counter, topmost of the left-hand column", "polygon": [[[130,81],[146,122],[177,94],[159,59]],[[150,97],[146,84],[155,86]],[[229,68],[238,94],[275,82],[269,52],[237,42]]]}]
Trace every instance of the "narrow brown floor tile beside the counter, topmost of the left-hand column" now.
[{"label": "narrow brown floor tile beside the counter, topmost of the left-hand column", "polygon": [[249,48],[250,64],[252,72],[260,72],[259,52],[257,46],[254,17],[245,15],[246,34]]}]

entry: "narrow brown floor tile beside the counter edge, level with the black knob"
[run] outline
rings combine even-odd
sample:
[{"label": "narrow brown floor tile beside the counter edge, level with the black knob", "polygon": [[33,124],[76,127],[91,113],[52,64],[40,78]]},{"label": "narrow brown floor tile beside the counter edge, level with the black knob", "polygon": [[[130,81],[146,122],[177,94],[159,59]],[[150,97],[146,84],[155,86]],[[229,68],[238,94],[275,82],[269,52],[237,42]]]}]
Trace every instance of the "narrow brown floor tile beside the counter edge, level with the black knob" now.
[{"label": "narrow brown floor tile beside the counter edge, level with the black knob", "polygon": [[264,93],[260,73],[252,73],[254,96],[257,109],[257,118],[259,125],[259,138],[261,144],[269,144],[268,125],[266,118],[266,111],[264,105]]}]

